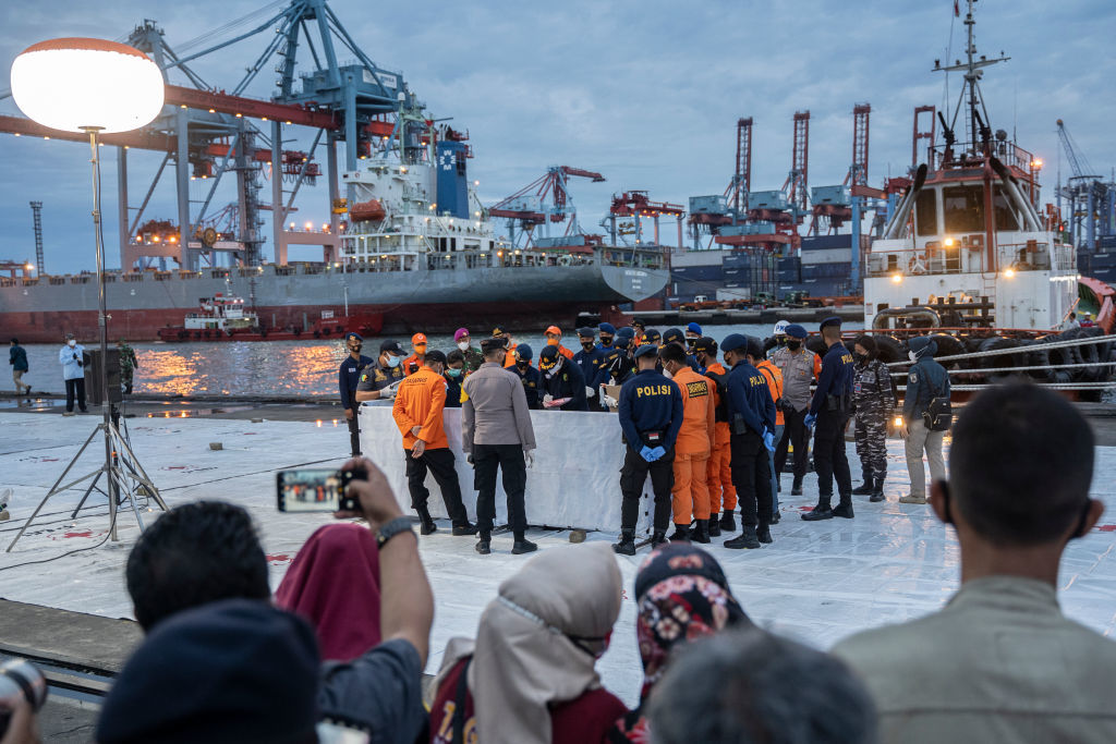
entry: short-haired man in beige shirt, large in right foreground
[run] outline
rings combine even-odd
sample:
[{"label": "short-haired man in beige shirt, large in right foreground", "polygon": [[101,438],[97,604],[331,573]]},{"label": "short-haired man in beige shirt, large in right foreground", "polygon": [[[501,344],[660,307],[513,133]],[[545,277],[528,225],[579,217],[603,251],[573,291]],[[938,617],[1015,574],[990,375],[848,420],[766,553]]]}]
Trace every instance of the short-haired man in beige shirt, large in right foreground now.
[{"label": "short-haired man in beige shirt, large in right foreground", "polygon": [[1066,544],[1104,511],[1093,460],[1089,425],[1056,393],[1004,385],[965,406],[930,502],[956,529],[961,590],[834,648],[875,697],[882,742],[1116,742],[1116,642],[1056,593]]}]

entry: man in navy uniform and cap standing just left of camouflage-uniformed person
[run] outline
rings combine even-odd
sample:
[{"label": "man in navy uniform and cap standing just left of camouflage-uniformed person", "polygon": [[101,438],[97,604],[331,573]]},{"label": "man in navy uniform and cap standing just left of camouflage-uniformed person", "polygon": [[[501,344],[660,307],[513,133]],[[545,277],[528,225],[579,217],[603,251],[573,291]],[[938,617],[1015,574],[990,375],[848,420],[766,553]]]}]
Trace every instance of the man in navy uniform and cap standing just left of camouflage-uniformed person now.
[{"label": "man in navy uniform and cap standing just left of camouflage-uniformed person", "polygon": [[[853,354],[840,340],[840,318],[821,321],[821,339],[826,342],[818,388],[810,400],[806,426],[814,431],[814,471],[818,474],[818,505],[802,514],[807,522],[834,516],[853,519],[853,476],[845,454],[845,427],[848,425],[853,395]],[[834,480],[840,503],[830,509]]]}]

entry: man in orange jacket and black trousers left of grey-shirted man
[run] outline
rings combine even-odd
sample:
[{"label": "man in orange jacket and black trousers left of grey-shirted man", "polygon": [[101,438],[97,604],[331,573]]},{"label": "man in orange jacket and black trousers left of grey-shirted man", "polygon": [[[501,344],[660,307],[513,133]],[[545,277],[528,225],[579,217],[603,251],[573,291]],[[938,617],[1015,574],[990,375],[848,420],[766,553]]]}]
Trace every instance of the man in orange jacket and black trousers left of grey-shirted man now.
[{"label": "man in orange jacket and black trousers left of grey-shirted man", "polygon": [[400,383],[392,416],[403,434],[407,490],[411,492],[411,508],[422,520],[420,531],[430,534],[437,530],[426,508],[430,491],[425,480],[426,471],[430,471],[442,490],[445,511],[453,521],[453,534],[477,534],[477,526],[469,523],[465,505],[461,502],[453,452],[450,451],[442,422],[445,408],[444,371],[445,355],[436,349],[427,351],[422,368]]}]

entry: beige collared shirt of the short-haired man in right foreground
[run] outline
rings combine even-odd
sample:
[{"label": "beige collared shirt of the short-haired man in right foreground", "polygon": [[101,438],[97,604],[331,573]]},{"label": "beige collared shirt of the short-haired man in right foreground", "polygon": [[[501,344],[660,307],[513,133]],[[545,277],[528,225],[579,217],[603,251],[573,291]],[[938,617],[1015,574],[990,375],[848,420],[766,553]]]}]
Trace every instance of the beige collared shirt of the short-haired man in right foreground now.
[{"label": "beige collared shirt of the short-haired man in right foreground", "polygon": [[968,581],[940,612],[833,653],[875,697],[881,742],[1116,742],[1116,642],[1035,579]]}]

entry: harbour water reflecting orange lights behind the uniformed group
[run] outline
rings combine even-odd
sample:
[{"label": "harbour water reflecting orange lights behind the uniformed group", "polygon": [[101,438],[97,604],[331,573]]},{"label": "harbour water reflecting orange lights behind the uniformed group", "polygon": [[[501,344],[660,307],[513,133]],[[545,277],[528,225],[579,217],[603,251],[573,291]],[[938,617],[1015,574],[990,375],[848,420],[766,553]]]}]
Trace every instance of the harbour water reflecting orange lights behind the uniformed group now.
[{"label": "harbour water reflecting orange lights behind the uniformed group", "polygon": [[[516,344],[529,344],[538,359],[546,345],[540,322],[537,332],[513,334]],[[862,328],[862,323],[846,322],[846,329]],[[660,331],[665,327],[657,327]],[[816,331],[817,323],[807,323]],[[684,329],[684,327],[683,327]],[[573,328],[562,329],[562,345],[578,351],[577,334]],[[705,326],[703,332],[720,342],[729,334],[745,334],[766,338],[771,336],[770,325]],[[491,332],[490,328],[475,329],[473,346]],[[389,337],[411,350],[410,337]],[[109,339],[115,344],[116,339]],[[366,338],[362,354],[375,358],[383,338]],[[86,349],[95,349],[95,339],[78,339]],[[453,337],[429,336],[430,348],[446,352],[456,348]],[[307,396],[335,395],[337,368],[345,357],[340,339],[309,339],[305,341],[221,341],[194,344],[143,342],[132,345],[140,361],[134,380],[134,392],[150,395],[249,395],[249,396]],[[29,345],[27,356],[30,370],[23,381],[35,390],[62,392],[61,367],[57,346]],[[3,385],[10,388],[11,380]]]}]

